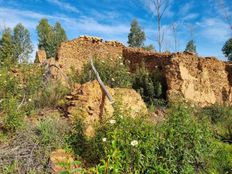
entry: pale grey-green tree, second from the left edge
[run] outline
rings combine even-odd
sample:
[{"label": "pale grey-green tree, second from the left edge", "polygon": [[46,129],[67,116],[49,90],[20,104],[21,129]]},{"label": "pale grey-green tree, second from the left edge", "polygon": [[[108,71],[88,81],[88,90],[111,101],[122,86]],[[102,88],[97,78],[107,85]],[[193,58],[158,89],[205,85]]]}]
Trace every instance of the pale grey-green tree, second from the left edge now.
[{"label": "pale grey-green tree, second from the left edge", "polygon": [[15,47],[14,57],[19,61],[29,59],[29,55],[33,51],[30,39],[30,33],[21,23],[15,26],[13,42]]}]

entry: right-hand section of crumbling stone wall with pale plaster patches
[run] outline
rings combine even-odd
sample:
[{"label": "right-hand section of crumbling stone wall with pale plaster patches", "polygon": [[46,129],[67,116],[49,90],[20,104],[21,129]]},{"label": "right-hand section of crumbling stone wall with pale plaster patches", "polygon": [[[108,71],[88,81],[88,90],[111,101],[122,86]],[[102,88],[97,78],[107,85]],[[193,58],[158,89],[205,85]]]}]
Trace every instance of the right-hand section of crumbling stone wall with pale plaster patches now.
[{"label": "right-hand section of crumbling stone wall with pale plaster patches", "polygon": [[139,64],[164,73],[169,101],[186,99],[202,106],[221,103],[232,104],[232,66],[216,58],[201,58],[188,53],[154,53],[125,48],[125,61],[131,71]]}]

